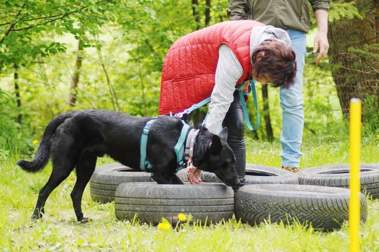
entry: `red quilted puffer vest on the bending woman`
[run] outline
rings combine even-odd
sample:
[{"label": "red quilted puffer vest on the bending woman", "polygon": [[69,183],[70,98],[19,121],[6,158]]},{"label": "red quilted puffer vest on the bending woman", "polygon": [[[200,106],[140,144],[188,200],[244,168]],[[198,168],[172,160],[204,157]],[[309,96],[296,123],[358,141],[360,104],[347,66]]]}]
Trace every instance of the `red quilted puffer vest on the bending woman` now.
[{"label": "red quilted puffer vest on the bending woman", "polygon": [[250,34],[253,27],[263,25],[226,21],[178,39],[163,62],[159,114],[181,112],[210,96],[221,44],[227,44],[242,65],[243,75],[236,85],[250,77]]}]

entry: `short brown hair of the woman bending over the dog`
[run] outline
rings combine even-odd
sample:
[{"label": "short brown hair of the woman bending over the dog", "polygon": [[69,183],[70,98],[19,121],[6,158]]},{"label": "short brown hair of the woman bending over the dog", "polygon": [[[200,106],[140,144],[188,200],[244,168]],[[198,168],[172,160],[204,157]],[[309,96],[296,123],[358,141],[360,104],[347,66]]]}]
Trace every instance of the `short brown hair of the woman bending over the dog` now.
[{"label": "short brown hair of the woman bending over the dog", "polygon": [[[264,52],[263,56],[258,55]],[[271,79],[273,87],[290,87],[296,75],[296,55],[287,43],[267,39],[260,43],[251,55],[253,77],[267,77]]]}]

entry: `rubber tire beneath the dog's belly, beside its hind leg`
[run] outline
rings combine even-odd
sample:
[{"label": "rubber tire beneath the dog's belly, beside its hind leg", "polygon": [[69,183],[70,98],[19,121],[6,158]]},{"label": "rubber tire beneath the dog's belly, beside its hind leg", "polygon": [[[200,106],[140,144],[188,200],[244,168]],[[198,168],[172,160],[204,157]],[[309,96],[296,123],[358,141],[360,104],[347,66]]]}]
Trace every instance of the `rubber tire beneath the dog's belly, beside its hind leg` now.
[{"label": "rubber tire beneath the dog's belly, beside its hind leg", "polygon": [[117,186],[125,182],[149,182],[151,173],[134,170],[120,163],[96,167],[89,181],[93,201],[109,203],[115,200]]}]

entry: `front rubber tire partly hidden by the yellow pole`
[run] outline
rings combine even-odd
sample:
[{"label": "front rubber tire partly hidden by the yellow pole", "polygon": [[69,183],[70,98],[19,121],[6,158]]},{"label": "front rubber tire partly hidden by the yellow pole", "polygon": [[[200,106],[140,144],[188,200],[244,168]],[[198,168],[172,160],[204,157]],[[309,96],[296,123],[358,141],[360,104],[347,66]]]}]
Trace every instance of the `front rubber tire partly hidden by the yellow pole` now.
[{"label": "front rubber tire partly hidden by the yellow pole", "polygon": [[[236,219],[255,225],[271,223],[312,223],[313,228],[331,231],[349,219],[350,190],[345,188],[294,185],[251,184],[235,196]],[[367,202],[360,197],[361,221],[367,218]]]}]

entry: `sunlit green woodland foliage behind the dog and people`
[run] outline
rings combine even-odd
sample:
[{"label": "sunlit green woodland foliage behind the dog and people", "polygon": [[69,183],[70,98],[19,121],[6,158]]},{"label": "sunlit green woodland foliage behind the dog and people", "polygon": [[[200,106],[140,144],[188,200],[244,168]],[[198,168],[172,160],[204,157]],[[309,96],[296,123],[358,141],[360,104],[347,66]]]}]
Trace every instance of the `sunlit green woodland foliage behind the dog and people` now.
[{"label": "sunlit green woodland foliage behind the dog and people", "polygon": [[[17,147],[2,140],[1,148],[7,152],[17,147],[30,154],[31,141],[41,138],[47,122],[70,109],[111,109],[155,116],[161,67],[168,48],[181,36],[205,26],[204,1],[198,6],[184,0],[65,0],[47,4],[34,0],[24,6],[23,3],[7,1],[0,10],[4,17],[0,24],[0,40],[4,38],[0,43],[0,85],[9,98],[14,97],[13,64],[19,62],[22,102],[20,111],[14,98],[3,103],[5,112],[0,112],[3,113],[0,116],[7,119],[0,123],[5,125],[7,121],[7,128],[3,126],[1,133],[25,143]],[[227,6],[226,0],[212,1],[209,24],[227,20]],[[332,1],[330,19],[359,17],[356,10],[354,2]],[[4,36],[12,24],[12,31]],[[77,39],[81,39],[84,49],[77,100],[72,107],[68,97],[78,54]],[[324,60],[316,66],[311,57],[312,54],[304,70],[304,139],[342,134],[347,125],[340,112],[330,65]],[[257,87],[261,109],[260,85]],[[274,137],[279,139],[282,110],[278,89],[269,88],[269,107]],[[252,99],[248,108],[254,123]],[[16,122],[19,112],[23,115],[22,125]],[[257,135],[265,140],[263,118],[261,121]]]}]

